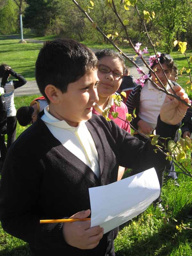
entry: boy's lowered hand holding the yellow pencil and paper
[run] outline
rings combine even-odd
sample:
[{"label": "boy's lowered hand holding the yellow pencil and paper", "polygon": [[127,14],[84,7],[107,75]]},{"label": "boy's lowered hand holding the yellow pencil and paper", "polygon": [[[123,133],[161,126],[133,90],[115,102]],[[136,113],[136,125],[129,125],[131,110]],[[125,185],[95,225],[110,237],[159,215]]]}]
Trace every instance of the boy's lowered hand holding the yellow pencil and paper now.
[{"label": "boy's lowered hand holding the yellow pencil and paper", "polygon": [[[87,218],[90,213],[90,210],[77,212],[69,219],[84,219]],[[103,237],[104,229],[100,228],[100,226],[92,228],[90,228],[90,226],[91,220],[63,223],[63,237],[66,243],[79,249],[95,248]]]}]

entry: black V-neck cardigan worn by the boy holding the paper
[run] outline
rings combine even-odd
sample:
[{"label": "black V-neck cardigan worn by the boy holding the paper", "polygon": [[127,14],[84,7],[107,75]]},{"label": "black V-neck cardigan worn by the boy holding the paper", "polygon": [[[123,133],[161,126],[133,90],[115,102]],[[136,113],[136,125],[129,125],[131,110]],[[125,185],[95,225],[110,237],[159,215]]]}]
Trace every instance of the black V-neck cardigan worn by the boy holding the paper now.
[{"label": "black V-neck cardigan worn by the boy holding the paper", "polygon": [[[98,151],[99,179],[61,145],[40,118],[7,153],[0,186],[0,220],[6,232],[30,244],[34,255],[115,255],[117,228],[105,234],[94,249],[81,250],[64,241],[62,223],[39,224],[39,220],[61,219],[90,209],[88,189],[116,181],[119,165],[142,172],[169,164],[163,154],[154,153],[150,143],[132,137],[113,121],[93,115],[86,125]],[[176,125],[158,119],[157,134],[173,138],[176,130]]]}]

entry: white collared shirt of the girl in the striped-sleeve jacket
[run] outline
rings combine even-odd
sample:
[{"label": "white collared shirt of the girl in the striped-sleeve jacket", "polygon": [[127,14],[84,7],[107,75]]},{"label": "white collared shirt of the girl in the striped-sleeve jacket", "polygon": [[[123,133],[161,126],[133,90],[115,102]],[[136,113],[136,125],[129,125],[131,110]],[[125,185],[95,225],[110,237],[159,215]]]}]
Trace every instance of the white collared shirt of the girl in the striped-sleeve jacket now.
[{"label": "white collared shirt of the girl in the striped-sleeve jacket", "polygon": [[[170,80],[169,82],[171,83]],[[169,84],[166,85],[166,89],[170,89]],[[156,127],[157,117],[160,114],[160,109],[164,103],[165,97],[166,94],[157,90],[150,81],[147,81],[141,90],[138,116],[150,124],[154,129]]]}]

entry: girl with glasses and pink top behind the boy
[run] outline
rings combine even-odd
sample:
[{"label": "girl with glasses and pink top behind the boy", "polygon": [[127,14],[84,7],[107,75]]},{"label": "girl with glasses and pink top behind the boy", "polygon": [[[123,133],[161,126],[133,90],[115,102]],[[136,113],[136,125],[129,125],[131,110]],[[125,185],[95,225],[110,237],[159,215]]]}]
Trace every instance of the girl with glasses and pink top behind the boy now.
[{"label": "girl with glasses and pink top behind the boy", "polygon": [[[121,102],[121,106],[116,106],[114,103],[114,95],[121,85],[124,72],[126,70],[123,57],[111,49],[104,49],[96,52],[95,55],[99,60],[98,73],[99,84],[97,92],[99,101],[94,106],[92,113],[102,115],[103,111],[108,110],[108,118],[113,120],[120,128],[127,132],[131,132],[129,123],[125,122],[126,113],[128,113],[126,105]],[[120,118],[113,118],[111,112],[118,112]],[[119,167],[118,180],[121,180],[124,167]]]}]

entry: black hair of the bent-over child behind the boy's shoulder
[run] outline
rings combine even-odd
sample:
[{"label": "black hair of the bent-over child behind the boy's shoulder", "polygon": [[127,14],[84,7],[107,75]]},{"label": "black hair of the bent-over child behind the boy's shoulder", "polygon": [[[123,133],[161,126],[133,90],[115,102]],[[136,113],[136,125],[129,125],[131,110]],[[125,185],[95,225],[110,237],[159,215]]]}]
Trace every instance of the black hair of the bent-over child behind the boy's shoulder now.
[{"label": "black hair of the bent-over child behind the boy's shoulder", "polygon": [[16,118],[21,126],[26,126],[32,121],[33,107],[21,107],[17,110]]}]

